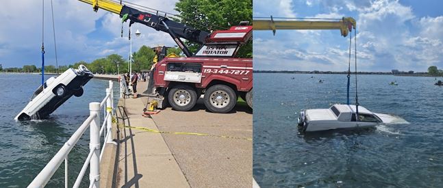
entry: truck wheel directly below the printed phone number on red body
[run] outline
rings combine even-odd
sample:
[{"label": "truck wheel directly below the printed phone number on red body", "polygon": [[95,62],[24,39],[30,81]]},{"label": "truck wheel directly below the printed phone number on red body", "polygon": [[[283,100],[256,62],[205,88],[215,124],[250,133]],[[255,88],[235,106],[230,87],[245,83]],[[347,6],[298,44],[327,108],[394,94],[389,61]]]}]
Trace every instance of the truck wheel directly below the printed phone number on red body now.
[{"label": "truck wheel directly below the printed phone number on red body", "polygon": [[227,113],[236,106],[237,94],[227,85],[212,85],[205,92],[205,106],[215,113]]}]

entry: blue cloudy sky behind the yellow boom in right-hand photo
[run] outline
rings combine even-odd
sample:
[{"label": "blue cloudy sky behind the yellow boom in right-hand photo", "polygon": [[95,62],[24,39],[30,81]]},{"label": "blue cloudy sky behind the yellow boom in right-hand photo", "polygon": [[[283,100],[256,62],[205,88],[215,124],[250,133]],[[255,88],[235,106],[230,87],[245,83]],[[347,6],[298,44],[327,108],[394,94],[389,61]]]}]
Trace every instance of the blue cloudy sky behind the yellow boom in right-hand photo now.
[{"label": "blue cloudy sky behind the yellow boom in right-hand photo", "polygon": [[[355,18],[359,71],[443,68],[443,1],[253,1],[254,17],[271,15]],[[272,31],[253,31],[255,70],[346,71],[348,58],[349,36],[344,38],[338,30],[277,30],[275,36]]]}]

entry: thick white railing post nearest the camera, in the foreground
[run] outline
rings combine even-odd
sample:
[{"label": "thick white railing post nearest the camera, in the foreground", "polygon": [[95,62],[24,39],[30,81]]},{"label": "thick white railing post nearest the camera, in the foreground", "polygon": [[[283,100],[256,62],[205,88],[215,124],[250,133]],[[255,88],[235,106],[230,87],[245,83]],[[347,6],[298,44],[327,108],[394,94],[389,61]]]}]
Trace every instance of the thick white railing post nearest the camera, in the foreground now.
[{"label": "thick white railing post nearest the camera, in the foreground", "polygon": [[90,124],[89,149],[94,150],[90,161],[89,180],[92,187],[100,187],[100,103],[89,103],[90,116],[95,116]]}]

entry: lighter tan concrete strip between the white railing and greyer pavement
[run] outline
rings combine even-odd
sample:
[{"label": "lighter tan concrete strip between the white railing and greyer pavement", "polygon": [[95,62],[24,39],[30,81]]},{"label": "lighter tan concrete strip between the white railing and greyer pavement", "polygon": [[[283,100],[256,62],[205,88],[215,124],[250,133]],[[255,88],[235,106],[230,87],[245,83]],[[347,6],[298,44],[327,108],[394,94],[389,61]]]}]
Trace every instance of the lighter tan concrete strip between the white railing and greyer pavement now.
[{"label": "lighter tan concrete strip between the white railing and greyer pavement", "polygon": [[[141,91],[144,84],[139,85]],[[119,105],[123,103],[128,118],[125,125],[157,130],[151,118],[141,116],[141,98],[121,99]],[[118,109],[117,113],[122,117]],[[119,136],[117,187],[190,187],[161,134],[127,128],[120,129]]]}]

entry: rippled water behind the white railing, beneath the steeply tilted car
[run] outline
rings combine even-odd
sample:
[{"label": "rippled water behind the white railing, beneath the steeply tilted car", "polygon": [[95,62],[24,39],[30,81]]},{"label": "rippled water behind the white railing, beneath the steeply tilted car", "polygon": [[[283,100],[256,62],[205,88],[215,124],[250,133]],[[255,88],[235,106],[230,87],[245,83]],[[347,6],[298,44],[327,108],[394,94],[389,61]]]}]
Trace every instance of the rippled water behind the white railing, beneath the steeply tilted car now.
[{"label": "rippled water behind the white railing, beneath the steeply tilted car", "polygon": [[[92,79],[85,85],[83,96],[72,96],[48,120],[16,122],[14,117],[40,85],[40,75],[0,74],[0,83],[0,187],[26,187],[31,183],[88,118],[88,104],[101,102],[109,86],[108,81]],[[114,87],[114,94],[118,94],[118,87]],[[70,186],[88,155],[88,143],[86,131],[69,155]],[[61,166],[47,187],[64,186],[64,164]],[[88,182],[87,174],[84,183]]]}]

